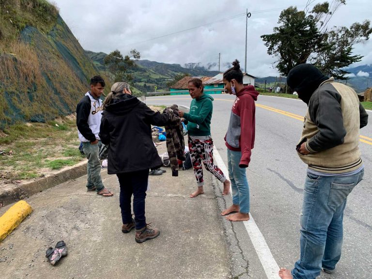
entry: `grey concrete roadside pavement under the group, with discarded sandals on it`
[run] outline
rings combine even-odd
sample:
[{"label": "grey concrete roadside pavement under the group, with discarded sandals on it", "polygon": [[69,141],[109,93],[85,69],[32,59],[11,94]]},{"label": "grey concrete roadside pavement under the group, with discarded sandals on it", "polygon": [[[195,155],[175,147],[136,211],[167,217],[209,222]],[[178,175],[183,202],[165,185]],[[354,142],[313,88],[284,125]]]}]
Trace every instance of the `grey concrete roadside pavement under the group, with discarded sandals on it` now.
[{"label": "grey concrete roadside pavement under the group, with discarded sandals on it", "polygon": [[[165,143],[158,151],[165,151]],[[104,169],[104,184],[114,197],[86,192],[82,176],[27,200],[33,213],[0,244],[1,278],[231,278],[229,233],[222,227],[215,180],[204,171],[205,194],[191,199],[192,169],[178,177],[165,169],[150,176],[146,198],[147,222],[161,231],[156,239],[138,244],[134,230],[121,232],[117,178]],[[52,266],[45,251],[59,240],[67,244],[68,256]]]}]

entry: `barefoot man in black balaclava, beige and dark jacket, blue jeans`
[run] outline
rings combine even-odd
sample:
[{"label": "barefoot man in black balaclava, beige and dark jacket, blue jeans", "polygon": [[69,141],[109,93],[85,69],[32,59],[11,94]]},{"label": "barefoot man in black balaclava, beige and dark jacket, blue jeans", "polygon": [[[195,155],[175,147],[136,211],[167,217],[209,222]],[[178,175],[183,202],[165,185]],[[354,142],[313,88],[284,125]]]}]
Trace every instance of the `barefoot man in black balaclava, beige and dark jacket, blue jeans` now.
[{"label": "barefoot man in black balaclava, beige and dark jacket, blue jeans", "polygon": [[301,256],[282,279],[315,279],[334,273],[341,257],[342,218],[346,199],[362,180],[359,128],[368,114],[355,91],[327,78],[313,65],[301,64],[287,84],[308,105],[297,154],[308,165],[301,209]]}]

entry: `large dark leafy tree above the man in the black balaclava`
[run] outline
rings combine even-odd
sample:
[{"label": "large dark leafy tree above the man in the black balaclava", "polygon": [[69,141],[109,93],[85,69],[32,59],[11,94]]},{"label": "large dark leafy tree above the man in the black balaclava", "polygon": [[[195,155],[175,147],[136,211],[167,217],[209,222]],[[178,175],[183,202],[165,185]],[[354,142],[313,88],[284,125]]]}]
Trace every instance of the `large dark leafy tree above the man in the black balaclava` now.
[{"label": "large dark leafy tree above the man in the black balaclava", "polygon": [[310,10],[313,2],[309,0],[304,11],[291,6],[280,13],[280,26],[272,34],[261,36],[267,53],[278,57],[274,63],[281,75],[287,76],[298,64],[312,63],[329,76],[345,79],[348,72],[344,68],[362,59],[352,55],[352,50],[354,45],[369,39],[370,21],[328,30],[329,20],[346,1],[334,0],[331,5],[324,2]]}]

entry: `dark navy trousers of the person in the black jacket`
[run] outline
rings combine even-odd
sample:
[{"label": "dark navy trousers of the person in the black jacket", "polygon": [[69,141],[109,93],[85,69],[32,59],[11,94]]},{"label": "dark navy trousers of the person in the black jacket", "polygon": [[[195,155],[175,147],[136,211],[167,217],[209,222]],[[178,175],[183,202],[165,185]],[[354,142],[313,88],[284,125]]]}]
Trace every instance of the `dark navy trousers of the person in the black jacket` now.
[{"label": "dark navy trousers of the person in the black jacket", "polygon": [[149,170],[117,174],[120,183],[120,208],[123,224],[132,222],[131,199],[133,195],[133,212],[136,229],[146,226],[145,199]]}]

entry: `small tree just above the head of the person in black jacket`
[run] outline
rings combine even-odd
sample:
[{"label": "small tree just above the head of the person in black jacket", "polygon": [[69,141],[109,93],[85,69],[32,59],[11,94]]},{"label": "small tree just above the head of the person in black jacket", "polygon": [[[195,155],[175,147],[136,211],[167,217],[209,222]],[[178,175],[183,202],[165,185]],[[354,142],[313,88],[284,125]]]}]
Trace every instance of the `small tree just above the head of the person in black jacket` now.
[{"label": "small tree just above the head of the person in black jacket", "polygon": [[136,49],[130,51],[130,56],[125,55],[124,57],[121,52],[116,49],[105,57],[104,63],[109,67],[110,71],[114,75],[115,82],[127,81],[132,83],[133,76],[127,73],[127,71],[137,67],[136,61],[138,61],[140,57],[140,52]]}]

